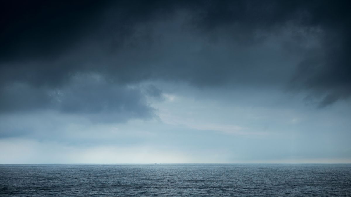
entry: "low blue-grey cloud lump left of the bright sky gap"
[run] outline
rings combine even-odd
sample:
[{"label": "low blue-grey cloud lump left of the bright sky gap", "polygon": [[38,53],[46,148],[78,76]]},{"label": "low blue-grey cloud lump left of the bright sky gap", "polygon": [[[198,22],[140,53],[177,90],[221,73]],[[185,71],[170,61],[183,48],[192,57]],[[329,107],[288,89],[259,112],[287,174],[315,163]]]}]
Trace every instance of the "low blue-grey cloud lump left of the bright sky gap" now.
[{"label": "low blue-grey cloud lump left of the bright sky gap", "polygon": [[60,110],[68,113],[117,113],[125,119],[152,117],[153,109],[139,89],[107,83],[99,75],[75,76],[72,85],[52,94]]}]

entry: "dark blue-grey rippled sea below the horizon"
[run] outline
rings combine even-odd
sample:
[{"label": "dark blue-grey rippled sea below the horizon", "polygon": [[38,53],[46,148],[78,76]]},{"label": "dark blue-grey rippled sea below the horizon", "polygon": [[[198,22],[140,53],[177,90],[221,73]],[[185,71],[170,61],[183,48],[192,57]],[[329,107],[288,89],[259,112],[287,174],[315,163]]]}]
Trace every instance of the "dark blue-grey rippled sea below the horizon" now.
[{"label": "dark blue-grey rippled sea below the horizon", "polygon": [[0,196],[351,196],[351,164],[0,165]]}]

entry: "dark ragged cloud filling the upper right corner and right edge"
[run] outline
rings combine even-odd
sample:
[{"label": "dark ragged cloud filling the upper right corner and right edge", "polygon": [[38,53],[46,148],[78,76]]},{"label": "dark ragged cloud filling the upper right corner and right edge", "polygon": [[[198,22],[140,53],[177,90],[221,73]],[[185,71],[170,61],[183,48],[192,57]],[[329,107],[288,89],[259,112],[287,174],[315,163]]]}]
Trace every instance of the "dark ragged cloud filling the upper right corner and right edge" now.
[{"label": "dark ragged cloud filling the upper right corner and right edge", "polygon": [[[205,17],[200,20],[200,27],[213,31],[229,24],[237,24],[243,30],[233,34],[244,45],[264,39],[253,35],[257,30],[274,33],[287,23],[293,23],[305,33],[315,34],[320,47],[305,55],[305,60],[299,63],[289,87],[310,91],[309,97],[322,98],[319,107],[350,97],[351,14],[348,1],[212,3],[212,8],[207,9]],[[313,31],[313,28],[318,30]],[[295,47],[301,43],[300,36],[301,34],[293,35]]]}]

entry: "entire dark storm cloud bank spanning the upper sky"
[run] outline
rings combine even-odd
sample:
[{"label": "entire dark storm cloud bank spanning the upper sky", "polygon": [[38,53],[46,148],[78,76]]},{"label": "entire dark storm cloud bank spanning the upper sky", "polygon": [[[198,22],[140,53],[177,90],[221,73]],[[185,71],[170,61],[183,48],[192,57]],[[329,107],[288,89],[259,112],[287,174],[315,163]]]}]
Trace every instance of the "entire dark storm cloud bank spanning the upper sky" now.
[{"label": "entire dark storm cloud bank spanning the upper sky", "polygon": [[[2,111],[112,110],[150,117],[144,95],[128,84],[283,83],[291,77],[287,63],[266,60],[262,47],[253,51],[284,31],[291,36],[282,53],[305,56],[291,89],[322,98],[322,107],[351,94],[346,1],[35,1],[1,7]],[[312,37],[320,47],[306,49]],[[74,80],[87,73],[105,82]],[[144,92],[160,95],[156,87]]]}]

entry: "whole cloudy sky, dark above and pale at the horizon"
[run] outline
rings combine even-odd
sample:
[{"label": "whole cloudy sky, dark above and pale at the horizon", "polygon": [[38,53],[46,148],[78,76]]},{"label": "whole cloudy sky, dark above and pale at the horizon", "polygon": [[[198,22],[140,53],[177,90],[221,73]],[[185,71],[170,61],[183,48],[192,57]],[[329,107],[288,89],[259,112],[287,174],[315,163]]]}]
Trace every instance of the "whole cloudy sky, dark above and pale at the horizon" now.
[{"label": "whole cloudy sky, dark above and pale at the horizon", "polygon": [[0,163],[351,163],[348,1],[7,1]]}]

